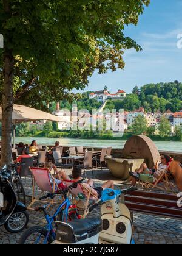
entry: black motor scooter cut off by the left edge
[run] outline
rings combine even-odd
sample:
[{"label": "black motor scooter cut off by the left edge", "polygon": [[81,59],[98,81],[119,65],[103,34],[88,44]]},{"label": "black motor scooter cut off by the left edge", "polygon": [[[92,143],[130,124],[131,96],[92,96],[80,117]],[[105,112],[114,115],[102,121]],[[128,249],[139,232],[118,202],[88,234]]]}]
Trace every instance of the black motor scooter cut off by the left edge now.
[{"label": "black motor scooter cut off by the left edge", "polygon": [[4,166],[0,170],[0,226],[10,233],[18,233],[27,226],[29,215],[25,205],[18,202],[9,177],[7,166]]}]

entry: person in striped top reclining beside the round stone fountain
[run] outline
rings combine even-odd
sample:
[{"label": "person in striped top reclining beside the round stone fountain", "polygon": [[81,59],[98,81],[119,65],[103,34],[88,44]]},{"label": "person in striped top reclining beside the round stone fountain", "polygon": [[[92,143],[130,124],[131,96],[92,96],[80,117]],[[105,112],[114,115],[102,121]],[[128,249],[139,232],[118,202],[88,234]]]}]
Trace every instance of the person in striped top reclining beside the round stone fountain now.
[{"label": "person in striped top reclining beside the round stone fountain", "polygon": [[167,171],[169,163],[170,157],[168,155],[161,155],[161,162],[158,164],[157,168],[153,167],[153,169],[149,169],[146,163],[143,163],[136,172],[130,172],[130,176],[132,176],[132,186],[136,185],[137,180],[149,183],[157,182],[161,174]]}]

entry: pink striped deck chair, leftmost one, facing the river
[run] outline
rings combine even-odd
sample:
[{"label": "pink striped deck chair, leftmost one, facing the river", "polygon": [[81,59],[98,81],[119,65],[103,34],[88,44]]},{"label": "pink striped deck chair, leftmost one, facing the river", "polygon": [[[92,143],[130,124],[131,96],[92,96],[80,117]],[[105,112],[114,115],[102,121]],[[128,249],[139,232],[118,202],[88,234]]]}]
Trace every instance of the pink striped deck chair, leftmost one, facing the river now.
[{"label": "pink striped deck chair, leftmost one, facing the river", "polygon": [[[59,191],[58,185],[56,185],[55,178],[52,176],[49,169],[44,168],[30,168],[33,176],[33,186],[32,186],[32,202],[27,207],[29,210],[33,210],[32,205],[35,202],[42,202],[39,200],[39,197],[45,191],[48,193],[55,193],[55,191]],[[51,179],[53,180],[53,185],[50,183],[49,174]],[[38,196],[35,196],[35,183],[38,185],[41,193]],[[51,201],[44,201],[50,204],[54,204],[54,199]]]}]

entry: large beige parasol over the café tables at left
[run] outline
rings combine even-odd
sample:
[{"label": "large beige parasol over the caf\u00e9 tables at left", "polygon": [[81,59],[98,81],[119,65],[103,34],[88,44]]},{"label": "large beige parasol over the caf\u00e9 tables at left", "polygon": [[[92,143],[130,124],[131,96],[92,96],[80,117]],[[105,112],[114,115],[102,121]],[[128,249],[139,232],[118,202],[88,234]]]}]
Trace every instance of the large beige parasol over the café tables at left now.
[{"label": "large beige parasol over the caf\u00e9 tables at left", "polygon": [[[2,108],[0,107],[0,120],[2,119]],[[47,120],[53,122],[65,122],[64,118],[37,110],[35,108],[25,107],[23,105],[13,105],[13,145],[15,147],[15,124],[29,121]],[[71,123],[71,122],[70,122]]]}]

